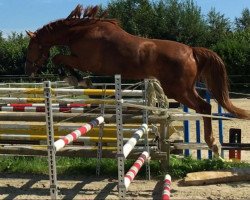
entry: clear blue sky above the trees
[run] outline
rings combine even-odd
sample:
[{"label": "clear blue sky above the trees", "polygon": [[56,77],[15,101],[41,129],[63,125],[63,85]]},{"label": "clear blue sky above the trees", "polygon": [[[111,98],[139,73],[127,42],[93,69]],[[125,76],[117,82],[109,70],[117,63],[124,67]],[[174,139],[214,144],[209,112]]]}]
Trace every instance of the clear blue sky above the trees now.
[{"label": "clear blue sky above the trees", "polygon": [[[211,8],[225,14],[231,21],[250,8],[250,0],[194,0],[206,15]],[[0,0],[0,31],[6,37],[11,32],[35,31],[50,21],[67,17],[77,4],[107,5],[110,0]]]}]

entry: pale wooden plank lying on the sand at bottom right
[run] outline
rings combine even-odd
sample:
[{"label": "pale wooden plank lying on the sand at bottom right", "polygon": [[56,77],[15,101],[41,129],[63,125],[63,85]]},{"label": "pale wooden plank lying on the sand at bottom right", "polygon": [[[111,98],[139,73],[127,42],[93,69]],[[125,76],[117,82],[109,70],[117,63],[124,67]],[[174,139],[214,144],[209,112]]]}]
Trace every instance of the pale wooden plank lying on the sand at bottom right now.
[{"label": "pale wooden plank lying on the sand at bottom right", "polygon": [[188,186],[198,186],[237,181],[250,181],[250,168],[188,173],[184,178],[183,184]]}]

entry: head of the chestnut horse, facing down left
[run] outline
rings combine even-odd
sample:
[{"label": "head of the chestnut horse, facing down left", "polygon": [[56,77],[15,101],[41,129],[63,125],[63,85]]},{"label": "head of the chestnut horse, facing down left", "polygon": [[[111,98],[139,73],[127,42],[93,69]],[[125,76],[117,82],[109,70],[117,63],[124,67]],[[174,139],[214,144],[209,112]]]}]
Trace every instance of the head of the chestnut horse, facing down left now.
[{"label": "head of the chestnut horse, facing down left", "polygon": [[49,57],[49,47],[39,43],[36,33],[26,31],[30,37],[28,52],[25,63],[25,73],[28,76],[35,76],[38,69]]}]

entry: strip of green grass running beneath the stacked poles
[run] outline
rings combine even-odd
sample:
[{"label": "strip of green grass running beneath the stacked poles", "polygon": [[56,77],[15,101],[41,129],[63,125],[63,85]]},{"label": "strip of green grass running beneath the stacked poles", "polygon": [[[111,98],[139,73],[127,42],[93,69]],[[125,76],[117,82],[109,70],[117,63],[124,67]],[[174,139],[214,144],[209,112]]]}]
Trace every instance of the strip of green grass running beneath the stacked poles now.
[{"label": "strip of green grass running beneath the stacked poles", "polygon": [[[89,158],[57,158],[58,174],[74,175],[95,175],[96,159]],[[133,164],[133,160],[125,163],[125,171]],[[154,178],[162,178],[166,173],[161,170],[159,161],[151,161],[151,174]],[[191,157],[179,158],[171,156],[170,167],[167,173],[173,178],[182,178],[187,173],[209,170],[223,170],[232,168],[250,167],[250,163],[223,162],[220,160],[196,160]],[[145,166],[143,167],[145,168]],[[48,174],[48,163],[46,157],[24,157],[24,156],[1,156],[0,172],[2,173],[28,173],[28,174]],[[117,177],[117,161],[115,159],[103,159],[101,164],[101,174],[110,177]],[[145,176],[145,170],[138,174]]]}]

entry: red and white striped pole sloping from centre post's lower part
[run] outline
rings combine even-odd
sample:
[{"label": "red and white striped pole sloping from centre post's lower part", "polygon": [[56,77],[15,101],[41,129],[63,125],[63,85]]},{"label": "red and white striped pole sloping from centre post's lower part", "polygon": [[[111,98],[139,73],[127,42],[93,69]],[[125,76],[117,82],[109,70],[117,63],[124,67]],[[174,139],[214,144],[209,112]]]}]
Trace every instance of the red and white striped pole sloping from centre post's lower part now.
[{"label": "red and white striped pole sloping from centre post's lower part", "polygon": [[148,158],[149,158],[148,152],[147,151],[142,152],[142,154],[135,161],[133,166],[128,170],[128,172],[124,176],[124,185],[126,187],[126,190],[128,189],[130,183],[134,180],[135,176],[137,175],[142,165]]}]

